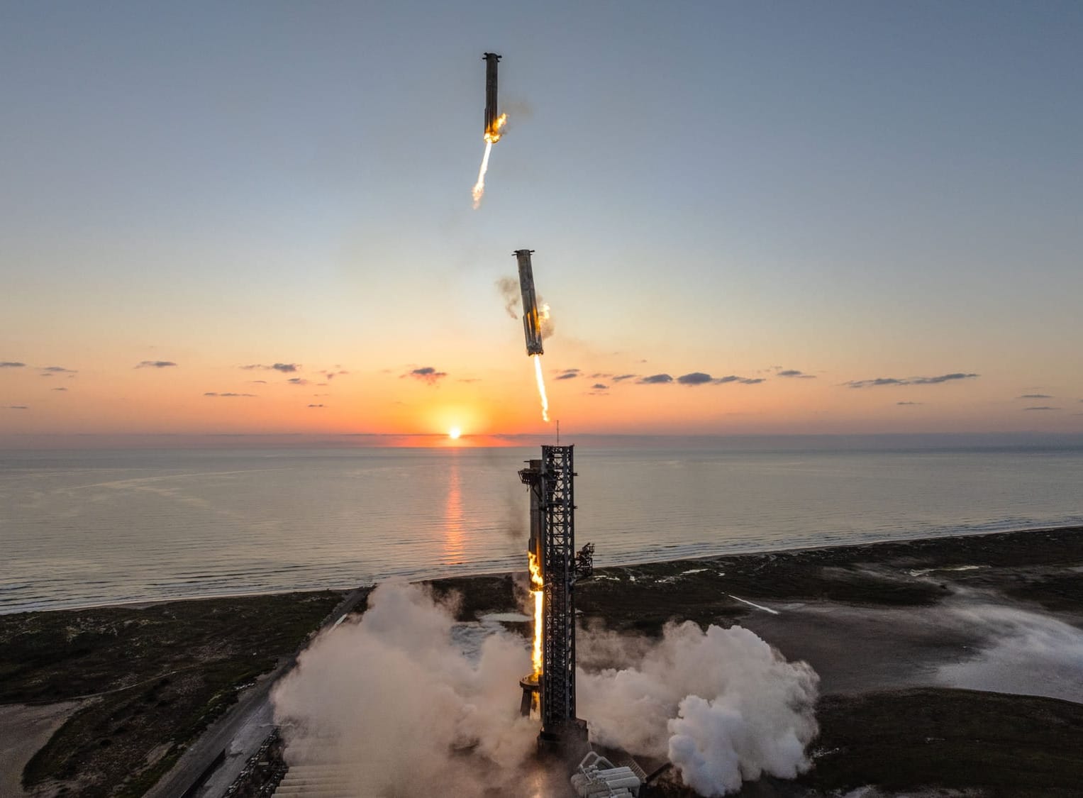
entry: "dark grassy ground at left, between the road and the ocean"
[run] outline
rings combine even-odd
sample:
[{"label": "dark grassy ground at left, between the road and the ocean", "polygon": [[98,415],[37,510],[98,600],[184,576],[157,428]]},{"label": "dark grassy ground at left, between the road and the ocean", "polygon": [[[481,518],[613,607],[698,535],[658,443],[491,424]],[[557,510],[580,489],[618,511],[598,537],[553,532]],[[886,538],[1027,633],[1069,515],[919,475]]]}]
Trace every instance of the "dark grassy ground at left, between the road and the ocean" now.
[{"label": "dark grassy ground at left, between the road and the ocean", "polygon": [[0,702],[91,696],[30,759],[24,785],[142,795],[341,599],[323,591],[0,616]]}]

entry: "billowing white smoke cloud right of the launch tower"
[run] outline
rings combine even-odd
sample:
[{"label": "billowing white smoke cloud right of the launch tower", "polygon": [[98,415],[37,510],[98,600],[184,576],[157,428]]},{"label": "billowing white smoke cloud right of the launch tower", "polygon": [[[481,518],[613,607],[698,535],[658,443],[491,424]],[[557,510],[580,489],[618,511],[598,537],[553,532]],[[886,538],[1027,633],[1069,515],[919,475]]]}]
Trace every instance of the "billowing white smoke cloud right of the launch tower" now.
[{"label": "billowing white smoke cloud right of the launch tower", "polygon": [[578,708],[593,740],[668,756],[688,786],[721,796],[762,773],[793,779],[809,768],[819,681],[747,629],[688,622],[667,625],[636,667],[580,671]]}]

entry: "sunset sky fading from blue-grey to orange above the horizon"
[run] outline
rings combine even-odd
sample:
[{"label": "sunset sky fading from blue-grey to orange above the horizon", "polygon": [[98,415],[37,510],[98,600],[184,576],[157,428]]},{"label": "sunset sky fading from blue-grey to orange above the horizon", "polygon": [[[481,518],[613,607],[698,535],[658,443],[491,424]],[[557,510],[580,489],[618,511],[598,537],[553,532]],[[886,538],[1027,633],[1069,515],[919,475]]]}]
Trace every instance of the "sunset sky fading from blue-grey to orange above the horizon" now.
[{"label": "sunset sky fading from blue-grey to orange above the horizon", "polygon": [[1079,2],[11,2],[0,74],[4,441],[540,432],[521,247],[570,432],[1083,431]]}]

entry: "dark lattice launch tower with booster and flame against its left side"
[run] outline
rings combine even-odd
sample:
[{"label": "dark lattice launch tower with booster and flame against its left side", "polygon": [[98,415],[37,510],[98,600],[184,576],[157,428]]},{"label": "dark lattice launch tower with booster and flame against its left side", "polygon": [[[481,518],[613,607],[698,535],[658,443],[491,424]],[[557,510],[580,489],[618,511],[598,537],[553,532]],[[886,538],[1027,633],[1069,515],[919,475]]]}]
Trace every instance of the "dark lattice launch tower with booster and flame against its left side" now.
[{"label": "dark lattice launch tower with booster and flame against its left side", "polygon": [[575,717],[575,584],[593,568],[592,545],[575,552],[574,448],[543,446],[542,459],[530,460],[519,472],[530,487],[529,552],[540,570],[543,592],[542,667],[520,682],[522,709],[530,712],[536,691],[538,747],[566,754],[578,753],[587,743],[586,723]]}]

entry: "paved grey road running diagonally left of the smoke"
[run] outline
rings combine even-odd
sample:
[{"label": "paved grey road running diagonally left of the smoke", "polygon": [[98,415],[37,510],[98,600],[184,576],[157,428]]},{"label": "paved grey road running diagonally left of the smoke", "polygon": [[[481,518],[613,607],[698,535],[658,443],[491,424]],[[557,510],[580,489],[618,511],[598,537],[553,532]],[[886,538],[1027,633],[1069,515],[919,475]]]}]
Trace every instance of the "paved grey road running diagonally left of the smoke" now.
[{"label": "paved grey road running diagonally left of the smoke", "polygon": [[[327,629],[337,624],[357,605],[367,590],[367,588],[358,588],[347,596],[321,629]],[[245,691],[233,708],[212,723],[181,755],[173,769],[158,780],[158,783],[147,790],[144,798],[181,798],[207,773],[211,763],[223,753],[226,755],[226,760],[216,770],[216,776],[218,770],[223,768],[226,770],[235,769],[235,774],[239,773],[245,761],[256,753],[260,743],[271,733],[270,727],[262,734],[259,733],[262,724],[271,721],[271,688],[297,664],[300,651],[298,650],[288,656],[278,667],[261,678],[255,686]],[[232,779],[223,784],[222,779],[214,777],[212,783],[208,780],[206,787],[194,795],[200,798],[205,796],[206,798],[218,798],[232,783]],[[211,786],[214,788],[213,793],[209,792]]]}]

